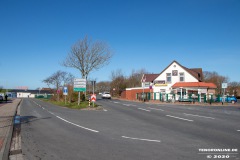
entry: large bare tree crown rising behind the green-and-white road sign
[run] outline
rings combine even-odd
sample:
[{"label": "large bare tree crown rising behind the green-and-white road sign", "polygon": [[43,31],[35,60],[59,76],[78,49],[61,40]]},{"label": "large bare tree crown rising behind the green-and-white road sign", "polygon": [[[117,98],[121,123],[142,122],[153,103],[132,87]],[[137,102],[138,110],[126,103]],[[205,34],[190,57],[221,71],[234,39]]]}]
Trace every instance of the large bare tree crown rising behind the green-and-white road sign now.
[{"label": "large bare tree crown rising behind the green-and-white road sign", "polygon": [[85,36],[72,46],[62,65],[78,69],[82,78],[87,79],[90,72],[107,65],[111,57],[112,52],[106,43],[101,41],[92,42]]}]

